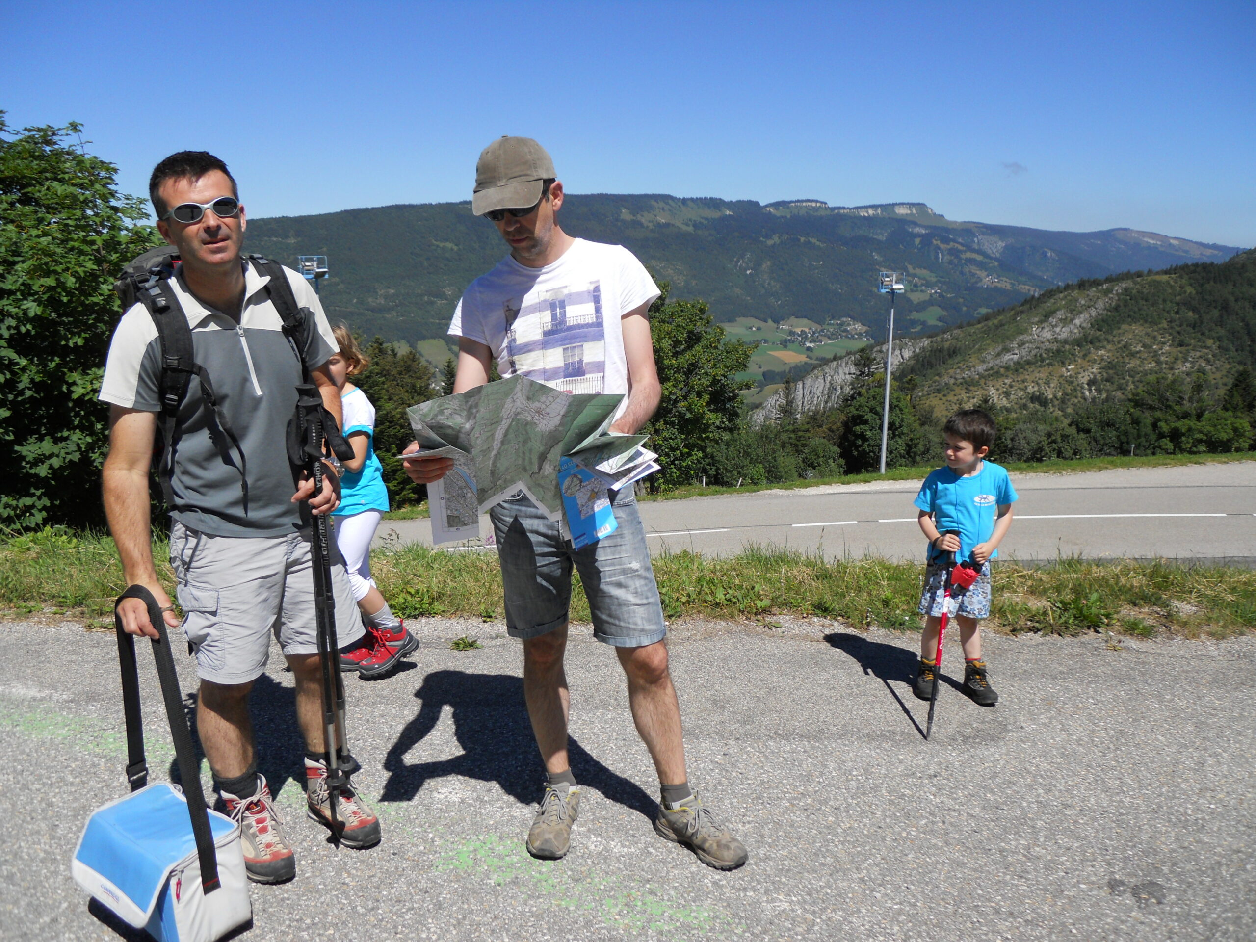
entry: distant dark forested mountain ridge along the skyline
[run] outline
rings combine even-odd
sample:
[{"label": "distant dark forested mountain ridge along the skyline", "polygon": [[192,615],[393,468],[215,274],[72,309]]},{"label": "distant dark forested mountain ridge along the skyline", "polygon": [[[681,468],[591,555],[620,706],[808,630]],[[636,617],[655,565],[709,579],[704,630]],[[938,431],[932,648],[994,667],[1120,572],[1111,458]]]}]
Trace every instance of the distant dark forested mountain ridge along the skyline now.
[{"label": "distant dark forested mountain ridge along the skyline", "polygon": [[[843,325],[848,318],[883,337],[879,269],[907,273],[901,329],[927,333],[1079,278],[1216,261],[1237,251],[1132,230],[955,222],[923,203],[845,208],[814,200],[761,206],[573,195],[561,219],[573,235],[627,245],[658,280],[671,283],[673,296],[701,298],[717,322],[805,319],[819,329],[820,344],[853,337]],[[411,344],[443,339],[462,290],[505,255],[496,230],[474,217],[467,202],[250,220],[249,247],[286,264],[301,254],[327,255],[329,314],[367,337]],[[813,350],[796,347],[811,359]]]}]

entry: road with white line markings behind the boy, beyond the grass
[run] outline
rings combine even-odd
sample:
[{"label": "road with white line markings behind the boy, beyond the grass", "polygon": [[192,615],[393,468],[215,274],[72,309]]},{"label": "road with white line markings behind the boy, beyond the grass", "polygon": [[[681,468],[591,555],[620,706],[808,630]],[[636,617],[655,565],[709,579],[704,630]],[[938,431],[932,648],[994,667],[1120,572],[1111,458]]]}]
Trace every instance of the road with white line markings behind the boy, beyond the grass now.
[{"label": "road with white line markings behind the boy, beyond the grass", "polygon": [[[731,555],[774,544],[825,556],[923,561],[919,481],[829,485],[642,501],[652,551]],[[1153,558],[1256,563],[1256,463],[1015,475],[1020,495],[1000,558]],[[487,517],[481,533],[489,533]],[[394,535],[389,535],[394,534]],[[384,521],[386,540],[431,544],[427,520]]]}]

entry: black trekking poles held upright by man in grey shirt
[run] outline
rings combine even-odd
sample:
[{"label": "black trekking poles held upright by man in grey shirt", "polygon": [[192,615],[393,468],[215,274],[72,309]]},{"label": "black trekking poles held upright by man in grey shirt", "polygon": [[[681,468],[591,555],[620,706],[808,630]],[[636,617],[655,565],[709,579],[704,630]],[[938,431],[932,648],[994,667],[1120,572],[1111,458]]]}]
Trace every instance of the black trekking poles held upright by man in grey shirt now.
[{"label": "black trekking poles held upright by man in grey shirt", "polygon": [[[324,426],[323,397],[318,387],[296,387],[296,408],[301,420],[303,453],[308,461],[314,494],[323,492],[324,442],[343,443],[339,430]],[[337,450],[339,451],[339,448]],[[306,506],[309,506],[306,504]],[[344,678],[340,676],[340,646],[335,637],[335,593],[332,589],[332,526],[325,514],[310,514],[310,568],[314,577],[314,617],[318,627],[318,657],[323,669],[323,736],[327,747],[327,791],[330,803],[332,833],[339,839],[337,810],[340,790],[349,784],[349,745],[344,732]]]}]

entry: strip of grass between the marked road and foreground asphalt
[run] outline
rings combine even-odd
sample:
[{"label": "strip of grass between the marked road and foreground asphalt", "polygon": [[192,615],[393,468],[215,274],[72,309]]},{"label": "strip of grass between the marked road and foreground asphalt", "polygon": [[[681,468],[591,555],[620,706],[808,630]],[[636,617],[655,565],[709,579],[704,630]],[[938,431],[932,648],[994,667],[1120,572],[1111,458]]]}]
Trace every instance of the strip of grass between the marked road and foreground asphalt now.
[{"label": "strip of grass between the marked road and foreground asphalt", "polygon": [[[156,545],[158,560],[166,546]],[[764,619],[806,614],[857,627],[917,629],[921,568],[884,559],[825,561],[775,548],[736,556],[663,554],[653,560],[668,618]],[[409,545],[376,551],[372,569],[406,618],[501,614],[501,570],[491,553]],[[173,575],[158,573],[167,589]],[[995,566],[992,628],[1073,636],[1091,631],[1149,637],[1226,637],[1256,625],[1256,571],[1172,563],[1060,560],[1046,568]],[[104,627],[122,592],[113,541],[58,530],[0,541],[0,607],[23,615],[53,608]],[[571,615],[588,620],[584,592]]]}]

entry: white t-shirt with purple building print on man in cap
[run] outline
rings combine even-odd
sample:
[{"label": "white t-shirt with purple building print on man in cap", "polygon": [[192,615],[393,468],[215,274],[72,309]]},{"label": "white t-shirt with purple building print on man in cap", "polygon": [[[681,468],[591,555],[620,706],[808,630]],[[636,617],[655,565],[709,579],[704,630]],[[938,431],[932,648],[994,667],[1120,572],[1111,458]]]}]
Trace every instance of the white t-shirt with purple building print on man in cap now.
[{"label": "white t-shirt with purple building print on man in cap", "polygon": [[[571,393],[628,393],[620,318],[658,298],[622,245],[577,239],[540,269],[502,259],[467,288],[450,334],[489,347],[502,378],[525,376]],[[627,406],[627,398],[619,411]]]}]

